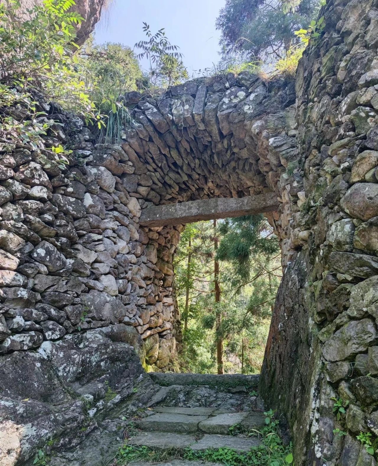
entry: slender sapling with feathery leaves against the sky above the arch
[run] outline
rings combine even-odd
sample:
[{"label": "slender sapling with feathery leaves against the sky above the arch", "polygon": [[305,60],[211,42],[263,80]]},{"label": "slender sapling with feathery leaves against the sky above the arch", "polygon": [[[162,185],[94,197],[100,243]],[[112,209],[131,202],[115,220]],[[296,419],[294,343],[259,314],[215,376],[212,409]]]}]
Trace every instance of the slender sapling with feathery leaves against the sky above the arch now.
[{"label": "slender sapling with feathery leaves against the sky above the arch", "polygon": [[138,59],[146,58],[149,62],[148,78],[152,89],[178,84],[188,79],[188,71],[182,62],[179,47],[172,45],[165,35],[164,27],[152,34],[149,25],[143,22],[143,32],[147,41],[139,41],[134,45],[141,52]]}]

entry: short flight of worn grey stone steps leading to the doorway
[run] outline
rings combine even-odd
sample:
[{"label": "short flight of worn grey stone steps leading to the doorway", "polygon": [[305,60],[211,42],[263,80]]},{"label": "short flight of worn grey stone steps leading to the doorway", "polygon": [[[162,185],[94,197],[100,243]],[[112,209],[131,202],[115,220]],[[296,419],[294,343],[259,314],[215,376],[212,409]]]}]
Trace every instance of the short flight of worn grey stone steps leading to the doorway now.
[{"label": "short flight of worn grey stone steps leading to the doorway", "polygon": [[[258,376],[170,373],[150,376],[162,386],[164,399],[151,406],[146,417],[135,421],[140,432],[128,439],[129,445],[145,445],[153,450],[172,450],[180,454],[187,447],[194,451],[229,447],[245,452],[259,445],[257,437],[231,435],[230,432],[234,425],[245,431],[264,426],[257,399],[251,396]],[[132,466],[148,464],[144,461],[130,463]],[[175,459],[162,464],[196,466],[215,463]]]}]

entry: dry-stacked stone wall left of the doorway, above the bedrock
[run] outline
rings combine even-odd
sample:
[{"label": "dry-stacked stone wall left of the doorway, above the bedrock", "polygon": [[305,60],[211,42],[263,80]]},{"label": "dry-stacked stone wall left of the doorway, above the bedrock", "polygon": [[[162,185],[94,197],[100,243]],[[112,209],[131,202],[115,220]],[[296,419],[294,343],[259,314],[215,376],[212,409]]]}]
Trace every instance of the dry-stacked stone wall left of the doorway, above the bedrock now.
[{"label": "dry-stacked stone wall left of the doorway, above the bedrock", "polygon": [[172,262],[180,227],[139,228],[139,181],[152,181],[77,117],[51,117],[70,134],[55,125],[46,143],[69,143],[69,166],[48,149],[2,145],[0,352],[122,323],[149,339],[147,363],[164,367],[177,328],[164,258]]}]

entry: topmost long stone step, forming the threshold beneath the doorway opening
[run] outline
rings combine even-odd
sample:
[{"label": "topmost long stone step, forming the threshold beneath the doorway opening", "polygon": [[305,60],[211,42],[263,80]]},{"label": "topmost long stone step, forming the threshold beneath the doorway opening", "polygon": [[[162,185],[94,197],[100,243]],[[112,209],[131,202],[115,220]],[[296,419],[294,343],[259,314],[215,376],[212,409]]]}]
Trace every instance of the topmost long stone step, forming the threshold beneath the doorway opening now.
[{"label": "topmost long stone step, forming the threshold beneath the doorway opening", "polygon": [[207,385],[218,391],[252,391],[257,390],[259,374],[245,376],[242,374],[190,374],[172,372],[150,372],[149,376],[156,384],[169,385]]}]

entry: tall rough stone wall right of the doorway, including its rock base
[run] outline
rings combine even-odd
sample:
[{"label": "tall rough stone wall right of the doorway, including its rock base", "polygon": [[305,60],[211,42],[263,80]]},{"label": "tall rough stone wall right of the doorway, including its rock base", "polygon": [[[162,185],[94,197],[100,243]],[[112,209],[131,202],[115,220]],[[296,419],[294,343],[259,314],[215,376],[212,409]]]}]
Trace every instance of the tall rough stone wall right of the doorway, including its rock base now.
[{"label": "tall rough stone wall right of the doorway, including its rock base", "polygon": [[378,9],[335,0],[322,15],[296,78],[298,168],[280,178],[289,262],[261,391],[287,416],[296,462],[372,466],[356,436],[378,435]]}]

